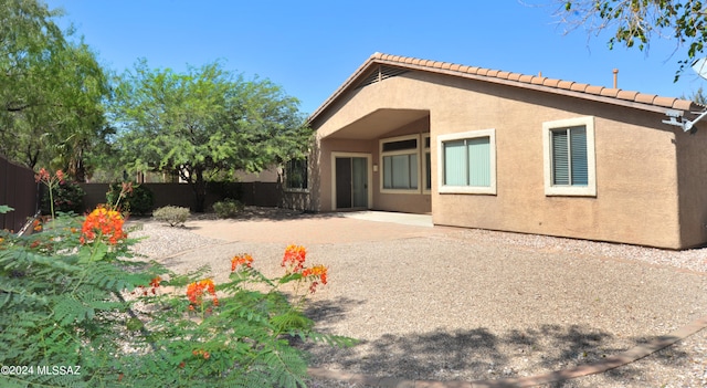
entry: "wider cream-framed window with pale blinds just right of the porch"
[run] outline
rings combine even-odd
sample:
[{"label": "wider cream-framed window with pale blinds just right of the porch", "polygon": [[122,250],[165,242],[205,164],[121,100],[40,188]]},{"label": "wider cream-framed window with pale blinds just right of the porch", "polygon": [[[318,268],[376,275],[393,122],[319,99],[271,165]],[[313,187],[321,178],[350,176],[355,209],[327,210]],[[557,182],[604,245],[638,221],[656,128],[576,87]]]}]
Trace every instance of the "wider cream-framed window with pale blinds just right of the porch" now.
[{"label": "wider cream-framed window with pale blinds just right of the porch", "polygon": [[440,192],[496,193],[496,130],[437,136]]}]

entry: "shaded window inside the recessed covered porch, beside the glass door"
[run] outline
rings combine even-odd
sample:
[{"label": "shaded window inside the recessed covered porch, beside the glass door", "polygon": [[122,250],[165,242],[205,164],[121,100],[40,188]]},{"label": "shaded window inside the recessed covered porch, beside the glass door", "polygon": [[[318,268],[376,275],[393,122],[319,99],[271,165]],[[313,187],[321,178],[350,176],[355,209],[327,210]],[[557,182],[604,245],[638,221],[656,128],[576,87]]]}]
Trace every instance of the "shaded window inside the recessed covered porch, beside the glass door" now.
[{"label": "shaded window inside the recessed covered porch, beside the glass door", "polygon": [[419,192],[419,136],[381,140],[382,192]]}]

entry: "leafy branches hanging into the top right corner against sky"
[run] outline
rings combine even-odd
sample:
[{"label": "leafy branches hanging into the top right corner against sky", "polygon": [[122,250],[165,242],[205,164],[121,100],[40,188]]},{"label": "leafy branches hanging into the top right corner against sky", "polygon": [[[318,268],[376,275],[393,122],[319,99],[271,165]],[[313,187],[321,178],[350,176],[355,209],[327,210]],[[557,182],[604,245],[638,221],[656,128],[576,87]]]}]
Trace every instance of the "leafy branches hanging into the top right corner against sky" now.
[{"label": "leafy branches hanging into the top right corner against sky", "polygon": [[707,2],[701,0],[560,0],[558,15],[570,28],[593,32],[612,30],[609,48],[616,44],[647,50],[654,38],[676,41],[680,54],[675,81],[707,45]]}]

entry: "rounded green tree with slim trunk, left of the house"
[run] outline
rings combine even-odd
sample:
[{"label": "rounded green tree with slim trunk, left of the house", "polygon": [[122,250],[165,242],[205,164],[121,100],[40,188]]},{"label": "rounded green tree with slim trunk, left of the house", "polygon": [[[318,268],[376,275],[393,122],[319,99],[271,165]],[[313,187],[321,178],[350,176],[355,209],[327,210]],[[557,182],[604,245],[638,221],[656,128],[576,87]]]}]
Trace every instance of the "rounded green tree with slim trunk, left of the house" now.
[{"label": "rounded green tree with slim trunk, left of the house", "polygon": [[312,136],[296,98],[218,62],[179,74],[139,61],[119,80],[112,113],[126,166],[179,174],[194,189],[196,211],[211,175],[300,156]]}]

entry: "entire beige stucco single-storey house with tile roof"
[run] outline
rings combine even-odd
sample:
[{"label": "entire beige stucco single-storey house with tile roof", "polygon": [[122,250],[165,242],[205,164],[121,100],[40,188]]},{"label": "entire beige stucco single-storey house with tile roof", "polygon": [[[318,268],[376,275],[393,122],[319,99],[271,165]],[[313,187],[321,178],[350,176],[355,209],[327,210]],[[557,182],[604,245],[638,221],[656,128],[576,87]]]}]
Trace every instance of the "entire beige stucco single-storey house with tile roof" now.
[{"label": "entire beige stucco single-storey house with tile roof", "polygon": [[[310,116],[285,205],[669,249],[707,242],[705,106],[376,53]],[[666,124],[664,122],[673,122]]]}]

